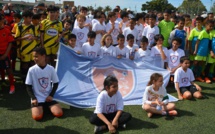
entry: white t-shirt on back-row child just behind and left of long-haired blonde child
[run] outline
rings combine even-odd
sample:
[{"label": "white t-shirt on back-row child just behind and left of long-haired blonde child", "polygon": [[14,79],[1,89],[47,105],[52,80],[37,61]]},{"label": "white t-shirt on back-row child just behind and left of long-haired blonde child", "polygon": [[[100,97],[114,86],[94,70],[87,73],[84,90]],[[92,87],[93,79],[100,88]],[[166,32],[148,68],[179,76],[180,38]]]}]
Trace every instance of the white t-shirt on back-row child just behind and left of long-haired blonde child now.
[{"label": "white t-shirt on back-row child just behind and left of long-haired blonde child", "polygon": [[[100,30],[105,31],[106,30],[106,26],[103,25],[103,24],[101,24],[100,22],[99,23],[95,23],[93,25],[92,31],[96,32],[96,31],[100,31]],[[102,35],[101,34],[96,34],[95,42],[98,43],[98,44],[101,44],[101,39],[102,39]]]}]

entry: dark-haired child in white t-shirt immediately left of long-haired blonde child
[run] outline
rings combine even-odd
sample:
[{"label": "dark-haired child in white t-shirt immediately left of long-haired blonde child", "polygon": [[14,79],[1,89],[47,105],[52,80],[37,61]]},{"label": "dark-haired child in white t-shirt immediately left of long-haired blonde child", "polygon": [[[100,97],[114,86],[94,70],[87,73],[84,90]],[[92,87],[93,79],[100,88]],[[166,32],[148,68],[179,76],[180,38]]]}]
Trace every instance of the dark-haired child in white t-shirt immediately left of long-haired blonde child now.
[{"label": "dark-haired child in white t-shirt immediately left of long-haired blonde child", "polygon": [[88,42],[84,43],[82,46],[83,55],[89,58],[96,58],[100,54],[100,45],[95,43],[96,33],[94,31],[90,31],[87,34]]}]

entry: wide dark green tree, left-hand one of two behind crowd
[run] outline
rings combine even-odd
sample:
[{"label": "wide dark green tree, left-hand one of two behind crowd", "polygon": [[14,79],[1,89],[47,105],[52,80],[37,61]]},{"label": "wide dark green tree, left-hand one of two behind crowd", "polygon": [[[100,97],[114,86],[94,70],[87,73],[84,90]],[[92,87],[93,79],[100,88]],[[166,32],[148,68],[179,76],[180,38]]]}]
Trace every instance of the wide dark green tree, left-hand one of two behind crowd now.
[{"label": "wide dark green tree, left-hand one of two behind crowd", "polygon": [[163,12],[166,9],[175,10],[176,8],[168,2],[168,0],[152,0],[147,1],[146,4],[142,4],[142,11],[159,11]]}]

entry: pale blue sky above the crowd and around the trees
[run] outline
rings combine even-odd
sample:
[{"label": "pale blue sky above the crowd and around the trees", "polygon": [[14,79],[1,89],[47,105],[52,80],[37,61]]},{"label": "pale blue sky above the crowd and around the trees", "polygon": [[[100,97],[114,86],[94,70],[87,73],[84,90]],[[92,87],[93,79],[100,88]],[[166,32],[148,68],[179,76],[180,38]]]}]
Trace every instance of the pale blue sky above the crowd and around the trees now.
[{"label": "pale blue sky above the crowd and around the trees", "polygon": [[[20,0],[16,0],[16,1],[20,1]],[[22,0],[22,1],[34,2],[35,0]],[[62,3],[64,0],[47,0],[47,1],[55,1],[56,3]],[[70,0],[65,0],[65,1],[70,1]],[[119,5],[121,9],[129,8],[132,11],[136,10],[137,12],[140,12],[142,4],[146,3],[146,1],[151,1],[151,0],[71,0],[71,1],[74,1],[76,6],[78,5],[93,6],[95,8],[98,6],[105,7],[109,5],[113,9],[116,5]],[[175,7],[178,7],[183,2],[183,0],[168,0],[168,1]],[[206,6],[207,10],[210,10],[211,3],[213,2],[215,2],[215,0],[202,0],[202,3]]]}]

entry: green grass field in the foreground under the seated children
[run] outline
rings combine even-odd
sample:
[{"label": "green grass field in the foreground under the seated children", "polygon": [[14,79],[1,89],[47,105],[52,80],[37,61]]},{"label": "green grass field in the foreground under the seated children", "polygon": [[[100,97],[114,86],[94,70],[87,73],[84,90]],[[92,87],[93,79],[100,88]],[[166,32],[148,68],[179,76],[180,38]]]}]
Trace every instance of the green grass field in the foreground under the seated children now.
[{"label": "green grass field in the foreground under the seated children", "polygon": [[[153,116],[148,118],[141,106],[125,106],[124,110],[133,118],[123,134],[213,134],[215,132],[215,83],[198,83],[203,88],[204,99],[184,100],[176,103],[179,113],[176,117]],[[173,87],[168,92],[176,96]],[[62,118],[45,113],[42,121],[31,118],[30,99],[25,86],[17,78],[16,92],[9,95],[9,87],[0,90],[0,134],[91,134],[94,126],[88,118],[94,109],[78,109],[61,104]],[[102,131],[101,133],[108,133]]]}]

